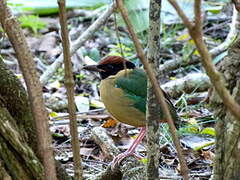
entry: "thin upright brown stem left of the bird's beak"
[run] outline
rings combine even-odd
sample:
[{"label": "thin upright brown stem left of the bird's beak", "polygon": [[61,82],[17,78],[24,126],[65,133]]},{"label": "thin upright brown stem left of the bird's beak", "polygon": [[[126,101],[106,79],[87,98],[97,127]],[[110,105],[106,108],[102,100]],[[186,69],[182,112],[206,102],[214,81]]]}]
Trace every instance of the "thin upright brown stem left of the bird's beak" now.
[{"label": "thin upright brown stem left of the bird's beak", "polygon": [[69,49],[69,38],[67,30],[67,15],[65,8],[65,0],[58,0],[59,16],[61,24],[61,35],[62,35],[62,46],[64,55],[64,66],[65,66],[65,86],[67,88],[68,97],[68,112],[70,119],[70,133],[71,133],[71,144],[73,151],[74,161],[74,175],[76,180],[83,179],[83,170],[81,166],[80,157],[80,145],[77,133],[77,120],[76,120],[76,107],[74,103],[74,80],[72,75],[72,62]]}]

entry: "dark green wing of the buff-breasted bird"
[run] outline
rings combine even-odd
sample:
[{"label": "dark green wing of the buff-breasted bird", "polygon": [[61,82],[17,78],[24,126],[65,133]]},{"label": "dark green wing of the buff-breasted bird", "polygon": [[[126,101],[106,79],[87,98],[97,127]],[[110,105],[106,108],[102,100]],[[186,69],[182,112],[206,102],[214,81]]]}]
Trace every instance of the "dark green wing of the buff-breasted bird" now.
[{"label": "dark green wing of the buff-breasted bird", "polygon": [[134,101],[135,108],[146,113],[147,76],[143,70],[134,69],[127,76],[118,77],[115,85],[124,91],[127,98]]}]

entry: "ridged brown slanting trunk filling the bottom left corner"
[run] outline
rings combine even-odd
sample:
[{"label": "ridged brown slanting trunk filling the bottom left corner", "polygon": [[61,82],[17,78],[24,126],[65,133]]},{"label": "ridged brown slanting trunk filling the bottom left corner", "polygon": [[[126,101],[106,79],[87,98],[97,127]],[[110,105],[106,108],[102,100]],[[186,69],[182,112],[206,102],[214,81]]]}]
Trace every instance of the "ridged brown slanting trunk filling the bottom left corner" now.
[{"label": "ridged brown slanting trunk filling the bottom left corner", "polygon": [[13,179],[43,179],[43,167],[19,134],[7,109],[0,105],[0,158]]}]

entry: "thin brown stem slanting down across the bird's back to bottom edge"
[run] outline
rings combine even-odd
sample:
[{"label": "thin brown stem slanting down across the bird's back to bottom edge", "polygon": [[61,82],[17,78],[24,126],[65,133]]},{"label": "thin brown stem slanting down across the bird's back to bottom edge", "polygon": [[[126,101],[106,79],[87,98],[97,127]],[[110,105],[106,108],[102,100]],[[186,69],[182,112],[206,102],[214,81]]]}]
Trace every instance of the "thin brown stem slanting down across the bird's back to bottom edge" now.
[{"label": "thin brown stem slanting down across the bird's back to bottom edge", "polygon": [[136,51],[137,51],[137,54],[138,54],[138,57],[140,58],[142,64],[144,65],[144,69],[146,70],[147,74],[148,74],[148,77],[152,83],[152,86],[154,88],[154,91],[156,93],[156,97],[157,97],[157,100],[163,110],[163,113],[166,115],[166,118],[167,118],[167,122],[169,124],[169,128],[170,128],[170,132],[172,134],[172,137],[173,137],[173,141],[174,141],[174,144],[176,146],[176,149],[177,149],[177,152],[178,152],[178,157],[179,157],[179,161],[180,161],[180,164],[181,164],[181,173],[184,177],[184,179],[189,179],[188,177],[188,167],[186,165],[186,162],[184,160],[184,156],[182,154],[182,150],[181,150],[181,146],[180,146],[180,141],[179,141],[179,138],[176,134],[176,128],[174,126],[174,123],[173,123],[173,120],[172,120],[172,117],[171,117],[171,114],[169,112],[169,109],[167,107],[167,104],[166,102],[164,101],[164,96],[163,96],[163,92],[162,90],[160,89],[160,86],[159,86],[159,83],[158,83],[158,80],[156,79],[156,75],[155,73],[153,72],[153,70],[151,69],[151,67],[149,66],[149,64],[147,63],[147,60],[144,56],[144,52],[143,52],[143,48],[140,44],[140,41],[138,40],[137,38],[137,35],[136,33],[134,32],[133,30],[133,26],[128,18],[128,14],[127,14],[127,11],[126,9],[124,8],[123,6],[123,2],[122,0],[117,0],[117,6],[122,14],[122,17],[127,25],[127,28],[128,28],[128,31],[133,39],[133,42],[135,44],[135,48],[136,48]]}]

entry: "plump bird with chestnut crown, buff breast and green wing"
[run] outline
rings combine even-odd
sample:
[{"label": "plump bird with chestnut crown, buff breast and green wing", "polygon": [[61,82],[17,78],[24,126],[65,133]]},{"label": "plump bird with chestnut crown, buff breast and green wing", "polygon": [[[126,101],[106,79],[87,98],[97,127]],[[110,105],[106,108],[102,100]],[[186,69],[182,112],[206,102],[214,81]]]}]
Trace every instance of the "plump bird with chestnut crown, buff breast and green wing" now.
[{"label": "plump bird with chestnut crown, buff breast and green wing", "polygon": [[[124,153],[114,158],[113,167],[127,156],[133,155],[141,159],[142,157],[136,154],[135,150],[146,134],[146,72],[121,56],[107,56],[101,59],[97,65],[88,65],[83,69],[100,74],[100,98],[114,119],[124,124],[141,127],[140,133],[132,145]],[[169,95],[164,91],[163,94],[172,119],[178,126],[179,117],[175,107]],[[156,114],[159,116],[159,122],[166,122],[160,106],[156,108],[156,111],[158,111]]]}]

